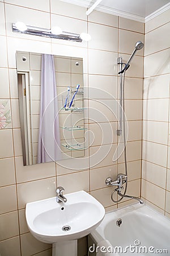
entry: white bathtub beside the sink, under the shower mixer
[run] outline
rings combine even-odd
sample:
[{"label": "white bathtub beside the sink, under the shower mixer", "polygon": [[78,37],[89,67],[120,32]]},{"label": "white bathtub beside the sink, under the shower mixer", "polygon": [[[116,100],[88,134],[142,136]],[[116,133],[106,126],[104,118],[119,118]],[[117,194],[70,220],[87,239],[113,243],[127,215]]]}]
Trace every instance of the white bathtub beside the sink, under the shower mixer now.
[{"label": "white bathtub beside the sink, under the shower mixer", "polygon": [[[118,219],[122,221],[120,226],[116,224]],[[101,246],[103,240],[108,240],[108,246],[113,248],[121,246],[116,251],[119,255],[170,255],[170,220],[146,204],[129,205],[105,214],[88,238],[88,247],[93,246],[90,256],[96,255],[96,246],[98,243]],[[126,247],[130,245],[134,248]]]}]

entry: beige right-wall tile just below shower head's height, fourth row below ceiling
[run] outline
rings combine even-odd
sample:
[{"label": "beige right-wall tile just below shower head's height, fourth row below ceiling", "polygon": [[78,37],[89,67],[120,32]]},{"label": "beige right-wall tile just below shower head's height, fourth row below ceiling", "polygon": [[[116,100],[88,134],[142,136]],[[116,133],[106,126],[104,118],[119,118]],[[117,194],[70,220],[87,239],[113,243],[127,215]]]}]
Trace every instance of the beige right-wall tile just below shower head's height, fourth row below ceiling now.
[{"label": "beige right-wall tile just below shower head's height, fourth row below ceiling", "polygon": [[[160,86],[161,85],[161,86]],[[148,77],[143,80],[143,98],[168,98],[169,75]]]}]

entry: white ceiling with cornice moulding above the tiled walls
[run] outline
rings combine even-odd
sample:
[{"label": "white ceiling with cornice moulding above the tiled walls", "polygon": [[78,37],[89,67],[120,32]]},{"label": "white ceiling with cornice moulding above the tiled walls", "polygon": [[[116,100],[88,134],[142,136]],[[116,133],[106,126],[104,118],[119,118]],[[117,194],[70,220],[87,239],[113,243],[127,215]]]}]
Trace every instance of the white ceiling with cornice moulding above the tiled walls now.
[{"label": "white ceiling with cornice moulding above the tiled walls", "polygon": [[[90,8],[96,0],[61,0]],[[102,0],[96,10],[146,22],[169,9],[170,0]],[[151,17],[151,18],[150,18]]]}]

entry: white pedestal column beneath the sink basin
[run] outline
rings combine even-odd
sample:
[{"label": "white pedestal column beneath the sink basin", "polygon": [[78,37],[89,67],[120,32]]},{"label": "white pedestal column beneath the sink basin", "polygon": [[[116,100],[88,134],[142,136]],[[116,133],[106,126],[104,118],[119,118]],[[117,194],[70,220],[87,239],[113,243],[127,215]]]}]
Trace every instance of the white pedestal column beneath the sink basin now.
[{"label": "white pedestal column beneath the sink basin", "polygon": [[53,243],[53,256],[77,256],[77,240]]}]

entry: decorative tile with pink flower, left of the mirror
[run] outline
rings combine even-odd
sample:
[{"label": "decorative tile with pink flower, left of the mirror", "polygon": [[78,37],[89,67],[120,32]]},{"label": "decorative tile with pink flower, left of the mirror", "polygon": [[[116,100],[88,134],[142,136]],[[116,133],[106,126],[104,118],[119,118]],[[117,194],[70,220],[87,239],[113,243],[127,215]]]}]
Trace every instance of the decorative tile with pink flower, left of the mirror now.
[{"label": "decorative tile with pink flower, left of the mirror", "polygon": [[10,100],[0,100],[0,129],[11,128]]}]

